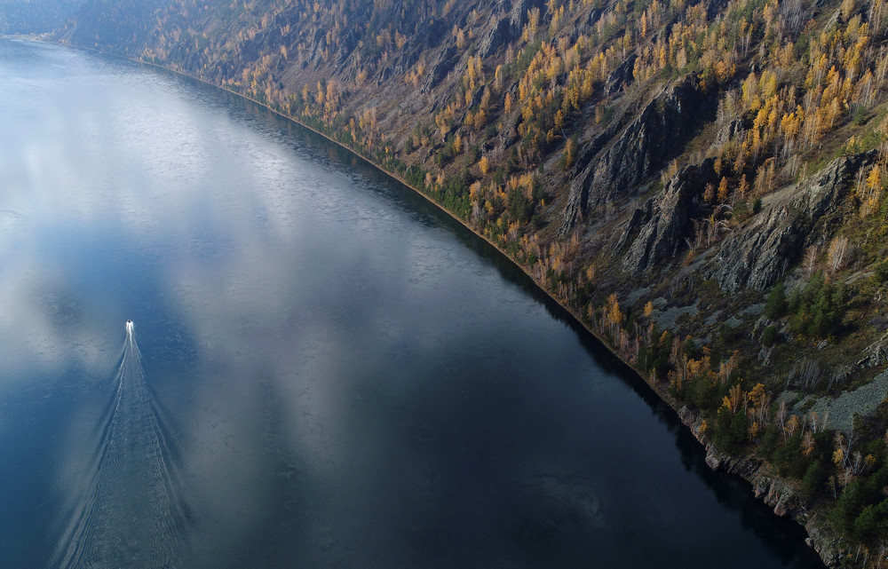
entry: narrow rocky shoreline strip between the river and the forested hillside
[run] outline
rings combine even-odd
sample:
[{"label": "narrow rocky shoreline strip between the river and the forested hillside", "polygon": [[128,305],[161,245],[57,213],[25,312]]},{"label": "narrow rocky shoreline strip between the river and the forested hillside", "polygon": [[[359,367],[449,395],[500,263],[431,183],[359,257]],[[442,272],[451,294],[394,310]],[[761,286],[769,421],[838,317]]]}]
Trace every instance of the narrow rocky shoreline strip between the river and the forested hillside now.
[{"label": "narrow rocky shoreline strip between the river and the forested hillside", "polygon": [[698,441],[698,443],[703,447],[706,453],[706,463],[709,465],[710,469],[718,472],[723,472],[725,474],[733,475],[742,478],[747,481],[751,485],[751,491],[756,496],[757,499],[765,502],[769,507],[773,507],[774,515],[785,518],[789,517],[794,522],[796,522],[799,526],[802,526],[805,529],[805,533],[808,534],[807,539],[805,539],[805,543],[812,549],[814,549],[817,554],[821,557],[821,561],[824,565],[827,566],[835,566],[840,557],[839,549],[842,544],[842,538],[836,536],[835,534],[829,533],[829,527],[824,526],[820,522],[820,512],[817,510],[809,511],[805,508],[804,501],[798,498],[797,494],[793,491],[793,486],[790,481],[780,478],[779,476],[774,475],[770,471],[770,467],[764,459],[757,457],[755,454],[748,455],[740,455],[733,456],[730,454],[724,454],[718,451],[716,447],[713,446],[711,442],[707,442],[704,439],[704,436],[700,433],[700,425],[702,423],[702,417],[697,415],[690,409],[688,409],[685,405],[680,404],[678,401],[673,399],[668,392],[662,390],[658,387],[655,382],[652,382],[649,377],[646,377],[645,374],[642,373],[637,367],[632,365],[630,361],[623,358],[620,352],[614,348],[613,345],[607,342],[606,338],[600,334],[597,330],[592,328],[589,324],[583,321],[580,314],[575,311],[575,309],[569,307],[566,303],[559,300],[557,296],[551,293],[550,290],[545,288],[540,281],[537,281],[534,275],[531,273],[530,269],[524,265],[519,263],[516,259],[511,257],[506,250],[503,249],[498,243],[492,241],[488,238],[487,235],[480,233],[476,228],[472,227],[468,222],[464,221],[461,217],[456,216],[453,212],[445,208],[439,202],[436,202],[432,199],[432,197],[428,194],[424,194],[424,192],[417,189],[415,186],[412,186],[408,183],[407,180],[402,178],[399,174],[386,170],[383,166],[377,164],[376,162],[370,160],[365,154],[362,154],[360,151],[355,150],[349,146],[345,146],[344,143],[337,141],[334,138],[331,138],[326,133],[321,130],[317,130],[305,122],[301,122],[297,118],[286,115],[279,110],[270,107],[265,103],[261,103],[256,99],[253,99],[245,94],[242,94],[237,91],[233,91],[230,88],[227,88],[222,85],[218,85],[216,83],[210,83],[205,81],[199,77],[194,75],[190,75],[185,71],[181,71],[175,68],[163,67],[163,65],[159,65],[157,63],[144,61],[141,59],[132,59],[130,57],[126,57],[123,55],[119,55],[113,52],[101,51],[98,49],[79,46],[72,43],[64,43],[58,41],[52,41],[50,39],[36,37],[36,36],[4,36],[7,39],[12,40],[20,40],[20,41],[34,41],[37,43],[50,43],[54,45],[64,46],[66,48],[73,48],[84,51],[91,51],[93,53],[98,53],[103,56],[111,56],[114,58],[123,59],[129,61],[131,63],[136,63],[141,66],[153,67],[155,69],[163,70],[167,73],[172,73],[181,77],[186,77],[187,79],[193,80],[197,83],[201,83],[202,85],[206,85],[208,87],[212,87],[214,89],[218,89],[221,91],[225,91],[232,95],[235,95],[241,99],[248,100],[251,103],[257,105],[258,107],[262,107],[285,119],[289,122],[293,122],[297,124],[300,128],[311,131],[314,134],[324,138],[328,142],[342,148],[354,156],[359,157],[363,162],[366,162],[373,169],[385,174],[385,176],[392,178],[399,182],[402,186],[407,187],[414,194],[420,196],[424,199],[425,202],[431,204],[435,209],[440,212],[446,214],[449,218],[455,220],[459,225],[462,225],[465,229],[470,231],[475,236],[479,237],[482,241],[486,242],[489,246],[496,249],[496,251],[501,254],[505,259],[511,263],[512,266],[519,268],[519,270],[527,275],[529,281],[531,281],[535,288],[542,292],[546,297],[548,297],[553,303],[557,304],[562,310],[567,312],[570,315],[573,323],[580,328],[582,328],[586,333],[590,334],[592,337],[596,339],[599,346],[604,348],[607,352],[614,356],[617,360],[621,361],[622,364],[627,367],[627,369],[631,370],[631,372],[638,377],[643,383],[646,384],[647,388],[653,392],[653,395],[657,397],[657,399],[662,400],[667,406],[670,407],[672,412],[678,418],[678,420],[690,431],[690,433],[694,436],[694,439]]}]

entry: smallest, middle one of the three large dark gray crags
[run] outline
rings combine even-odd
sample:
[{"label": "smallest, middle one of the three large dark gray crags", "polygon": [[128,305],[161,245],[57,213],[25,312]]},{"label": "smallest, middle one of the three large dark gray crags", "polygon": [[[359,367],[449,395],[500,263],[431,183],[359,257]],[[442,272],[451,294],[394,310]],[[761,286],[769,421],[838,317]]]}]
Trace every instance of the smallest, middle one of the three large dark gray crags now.
[{"label": "smallest, middle one of the three large dark gray crags", "polygon": [[662,265],[686,248],[685,240],[694,231],[693,219],[702,214],[698,196],[715,178],[711,159],[699,167],[686,166],[670,179],[662,194],[635,210],[617,244],[617,251],[626,251],[622,265],[627,271],[638,273]]}]

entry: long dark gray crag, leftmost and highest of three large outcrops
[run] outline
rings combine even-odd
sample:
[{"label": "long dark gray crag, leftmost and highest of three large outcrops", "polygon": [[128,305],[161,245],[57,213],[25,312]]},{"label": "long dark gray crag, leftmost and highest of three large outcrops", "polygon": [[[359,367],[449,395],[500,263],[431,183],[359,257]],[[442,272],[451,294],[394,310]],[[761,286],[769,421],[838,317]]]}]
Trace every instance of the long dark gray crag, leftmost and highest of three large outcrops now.
[{"label": "long dark gray crag, leftmost and highest of three large outcrops", "polygon": [[[662,91],[626,127],[620,138],[601,150],[597,159],[589,160],[574,178],[565,211],[565,225],[572,227],[590,209],[619,195],[630,195],[641,181],[678,154],[680,142],[697,124],[695,118],[700,114],[702,102],[693,79]],[[581,154],[589,152],[583,149]]]}]

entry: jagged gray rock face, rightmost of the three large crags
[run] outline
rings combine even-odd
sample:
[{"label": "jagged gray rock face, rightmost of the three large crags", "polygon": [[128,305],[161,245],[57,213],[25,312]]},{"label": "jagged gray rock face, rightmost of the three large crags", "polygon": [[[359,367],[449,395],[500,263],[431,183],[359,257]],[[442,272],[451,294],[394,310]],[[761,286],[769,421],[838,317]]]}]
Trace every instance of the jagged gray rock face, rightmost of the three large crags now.
[{"label": "jagged gray rock face, rightmost of the three large crags", "polygon": [[813,178],[771,196],[765,211],[723,241],[707,277],[723,290],[769,288],[821,236],[813,226],[835,211],[857,171],[875,158],[873,153],[837,158]]}]

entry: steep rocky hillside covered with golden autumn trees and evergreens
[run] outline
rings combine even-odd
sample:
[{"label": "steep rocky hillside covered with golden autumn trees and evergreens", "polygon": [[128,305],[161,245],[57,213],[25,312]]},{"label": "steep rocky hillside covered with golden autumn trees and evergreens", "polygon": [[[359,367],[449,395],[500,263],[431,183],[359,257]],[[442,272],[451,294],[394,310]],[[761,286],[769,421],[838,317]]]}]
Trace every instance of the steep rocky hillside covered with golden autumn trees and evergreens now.
[{"label": "steep rocky hillside covered with golden autumn trees and evergreens", "polygon": [[523,265],[829,564],[888,549],[884,0],[89,0]]}]

